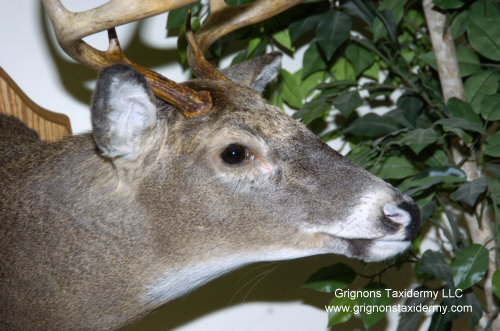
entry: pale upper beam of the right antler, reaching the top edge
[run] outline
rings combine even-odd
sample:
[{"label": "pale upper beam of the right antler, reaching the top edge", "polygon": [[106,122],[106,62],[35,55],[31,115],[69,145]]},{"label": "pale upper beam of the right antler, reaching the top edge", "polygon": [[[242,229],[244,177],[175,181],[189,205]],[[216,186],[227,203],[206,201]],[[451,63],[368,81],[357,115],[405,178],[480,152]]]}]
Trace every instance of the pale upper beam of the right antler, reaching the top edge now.
[{"label": "pale upper beam of the right antler, reaching the top edge", "polygon": [[239,28],[259,23],[304,0],[258,0],[241,6],[228,6],[224,0],[210,0],[210,17],[196,33],[204,53],[210,45]]}]

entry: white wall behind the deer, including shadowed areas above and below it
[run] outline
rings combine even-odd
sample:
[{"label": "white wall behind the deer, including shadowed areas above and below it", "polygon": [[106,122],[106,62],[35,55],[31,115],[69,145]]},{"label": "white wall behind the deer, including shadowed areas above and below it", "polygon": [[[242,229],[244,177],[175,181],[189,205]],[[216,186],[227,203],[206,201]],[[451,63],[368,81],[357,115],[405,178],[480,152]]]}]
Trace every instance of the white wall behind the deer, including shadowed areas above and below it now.
[{"label": "white wall behind the deer, including shadowed areas above and below it", "polygon": [[[63,1],[74,11],[104,2]],[[137,62],[174,81],[184,81],[189,72],[177,64],[176,38],[166,38],[165,26],[166,15],[159,15],[140,25],[133,23],[120,27],[118,35],[122,48],[131,58],[131,54],[136,58],[143,55]],[[102,33],[86,40],[101,49],[107,46],[106,35]],[[76,64],[60,50],[40,1],[0,0],[0,41],[0,66],[33,101],[69,116],[74,133],[90,130],[88,105],[96,73]],[[164,65],[166,62],[170,64]],[[286,58],[284,62],[293,72],[301,65],[300,59],[294,62]],[[323,331],[327,316],[322,305],[327,304],[331,296],[300,289],[300,285],[319,267],[339,259],[346,260],[332,256],[312,257],[245,268],[176,300],[135,330]],[[354,260],[347,263],[358,265]],[[263,272],[274,267],[277,269],[260,280]],[[363,268],[357,267],[358,270]],[[375,265],[373,268],[381,267]],[[401,289],[409,288],[409,280],[399,281]],[[382,322],[372,330],[395,329],[396,319],[397,316],[393,316],[391,321]],[[362,329],[362,324],[357,320],[340,329]]]}]

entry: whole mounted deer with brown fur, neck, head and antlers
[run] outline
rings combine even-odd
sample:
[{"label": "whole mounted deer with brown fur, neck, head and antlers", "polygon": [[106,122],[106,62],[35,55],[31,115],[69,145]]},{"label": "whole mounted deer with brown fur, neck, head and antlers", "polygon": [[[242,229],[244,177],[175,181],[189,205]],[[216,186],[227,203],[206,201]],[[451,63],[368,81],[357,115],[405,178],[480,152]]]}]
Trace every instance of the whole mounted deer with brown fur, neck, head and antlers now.
[{"label": "whole mounted deer with brown fur, neck, head and antlers", "polygon": [[[33,135],[0,117],[0,329],[116,329],[245,264],[380,261],[410,246],[420,214],[409,197],[260,97],[279,53],[217,72],[200,55],[213,40],[199,50],[188,26],[201,77],[177,84],[116,55],[113,32],[108,52],[80,40],[189,2],[112,0],[74,14],[44,0],[63,48],[106,68],[92,133],[19,139]],[[214,1],[212,17],[297,2]],[[231,30],[212,17],[206,26]]]}]

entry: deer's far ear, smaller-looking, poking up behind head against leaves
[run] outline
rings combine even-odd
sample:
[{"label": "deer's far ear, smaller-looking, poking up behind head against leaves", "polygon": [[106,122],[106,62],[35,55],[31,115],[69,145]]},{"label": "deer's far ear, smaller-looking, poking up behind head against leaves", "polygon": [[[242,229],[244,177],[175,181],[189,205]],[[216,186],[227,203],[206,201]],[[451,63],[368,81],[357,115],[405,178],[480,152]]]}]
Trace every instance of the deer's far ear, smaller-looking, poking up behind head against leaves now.
[{"label": "deer's far ear, smaller-looking, poking up behind head against leaves", "polygon": [[221,70],[221,72],[234,82],[245,84],[258,92],[262,92],[264,87],[276,77],[281,67],[282,57],[282,53],[272,52],[236,64]]}]

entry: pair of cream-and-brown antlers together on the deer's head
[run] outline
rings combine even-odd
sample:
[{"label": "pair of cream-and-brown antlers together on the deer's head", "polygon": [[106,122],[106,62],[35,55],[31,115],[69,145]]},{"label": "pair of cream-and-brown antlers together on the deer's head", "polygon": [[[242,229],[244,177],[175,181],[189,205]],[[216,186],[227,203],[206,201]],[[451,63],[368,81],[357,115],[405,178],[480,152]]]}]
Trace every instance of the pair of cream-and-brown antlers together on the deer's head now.
[{"label": "pair of cream-and-brown antlers together on the deer's head", "polygon": [[[128,60],[121,51],[114,30],[120,24],[177,9],[196,0],[110,0],[100,7],[80,13],[66,10],[60,0],[42,1],[59,44],[76,61],[95,70],[118,62],[130,64],[146,77],[156,96],[182,109],[185,116],[195,116],[212,107],[208,92],[196,92]],[[206,49],[222,36],[277,15],[302,1],[304,0],[258,0],[247,5],[230,7],[224,0],[210,0],[210,17],[197,33],[199,48],[190,31],[190,24],[186,24],[186,37],[190,44],[188,61],[193,72],[202,78],[226,80],[227,78],[203,57]],[[82,40],[85,36],[106,29],[109,34],[107,51],[99,51]]]}]

